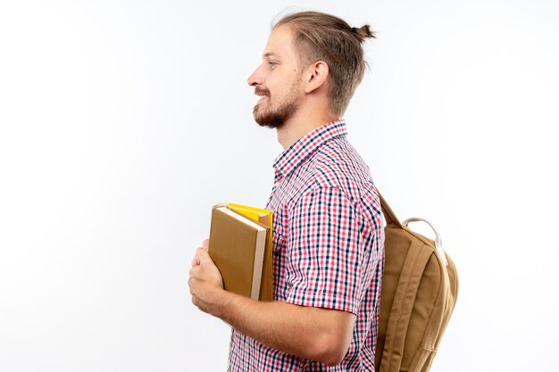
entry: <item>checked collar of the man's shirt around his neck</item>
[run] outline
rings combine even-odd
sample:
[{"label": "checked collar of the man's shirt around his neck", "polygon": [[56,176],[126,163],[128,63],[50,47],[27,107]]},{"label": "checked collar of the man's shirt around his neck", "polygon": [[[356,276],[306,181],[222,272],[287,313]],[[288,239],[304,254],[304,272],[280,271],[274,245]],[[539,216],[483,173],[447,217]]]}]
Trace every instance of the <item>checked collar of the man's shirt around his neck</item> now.
[{"label": "checked collar of the man's shirt around his neck", "polygon": [[347,135],[346,120],[340,119],[324,124],[299,138],[295,144],[280,153],[273,163],[276,178],[288,176],[296,167],[305,161],[316,149],[331,139]]}]

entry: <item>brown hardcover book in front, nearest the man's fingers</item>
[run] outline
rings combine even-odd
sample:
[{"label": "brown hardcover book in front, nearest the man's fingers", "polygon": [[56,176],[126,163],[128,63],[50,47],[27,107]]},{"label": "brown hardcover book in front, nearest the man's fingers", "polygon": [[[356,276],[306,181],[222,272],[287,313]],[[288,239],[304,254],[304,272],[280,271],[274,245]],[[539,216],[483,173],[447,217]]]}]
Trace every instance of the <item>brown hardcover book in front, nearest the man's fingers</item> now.
[{"label": "brown hardcover book in front, nearest the man's fingers", "polygon": [[260,298],[269,230],[227,205],[213,207],[208,252],[220,269],[225,290],[254,300]]}]

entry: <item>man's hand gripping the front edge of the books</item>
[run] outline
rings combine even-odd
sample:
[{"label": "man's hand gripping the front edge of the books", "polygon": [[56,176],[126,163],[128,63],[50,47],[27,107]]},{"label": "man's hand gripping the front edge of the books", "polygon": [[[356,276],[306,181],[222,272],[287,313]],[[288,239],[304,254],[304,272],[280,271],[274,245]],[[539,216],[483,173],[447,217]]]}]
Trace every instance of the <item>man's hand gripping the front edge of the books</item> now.
[{"label": "man's hand gripping the front edge of the books", "polygon": [[192,303],[200,310],[218,316],[221,307],[221,294],[223,290],[223,278],[213,260],[208,254],[210,241],[204,240],[202,247],[196,249],[196,255],[192,260],[188,286],[192,295]]}]

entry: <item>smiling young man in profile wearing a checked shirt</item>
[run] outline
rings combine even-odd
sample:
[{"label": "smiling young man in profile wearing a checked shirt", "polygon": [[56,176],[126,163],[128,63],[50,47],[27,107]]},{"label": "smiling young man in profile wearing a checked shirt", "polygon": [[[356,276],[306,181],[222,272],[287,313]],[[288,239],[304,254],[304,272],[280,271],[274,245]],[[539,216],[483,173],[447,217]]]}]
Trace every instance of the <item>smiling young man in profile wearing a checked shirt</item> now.
[{"label": "smiling young man in profile wearing a checked shirt", "polygon": [[[369,26],[298,12],[272,29],[248,78],[262,98],[254,120],[276,128],[267,208],[274,212],[274,302],[223,290],[196,250],[192,302],[233,328],[230,371],[373,371],[384,228],[370,171],[339,118],[363,78]],[[330,367],[329,367],[330,366]]]}]

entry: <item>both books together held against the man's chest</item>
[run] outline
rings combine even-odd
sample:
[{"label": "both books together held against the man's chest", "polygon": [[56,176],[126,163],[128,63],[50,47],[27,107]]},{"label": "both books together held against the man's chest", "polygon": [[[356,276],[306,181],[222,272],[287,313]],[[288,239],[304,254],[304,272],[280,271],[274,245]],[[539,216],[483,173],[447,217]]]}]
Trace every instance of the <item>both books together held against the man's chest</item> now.
[{"label": "both books together held against the man's chest", "polygon": [[241,204],[213,206],[209,253],[225,290],[273,301],[272,216]]}]

